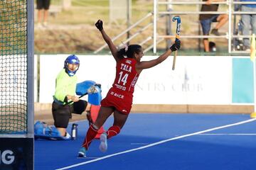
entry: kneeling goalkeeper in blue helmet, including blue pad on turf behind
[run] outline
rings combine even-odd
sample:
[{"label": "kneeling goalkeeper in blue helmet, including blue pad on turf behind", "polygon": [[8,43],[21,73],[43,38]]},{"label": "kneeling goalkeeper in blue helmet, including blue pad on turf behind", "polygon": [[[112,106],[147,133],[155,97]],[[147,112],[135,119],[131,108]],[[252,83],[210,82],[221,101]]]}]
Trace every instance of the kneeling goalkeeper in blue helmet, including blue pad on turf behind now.
[{"label": "kneeling goalkeeper in blue helmet, including blue pad on turf behind", "polygon": [[[55,94],[53,96],[52,113],[55,127],[38,121],[35,124],[36,137],[69,140],[70,135],[66,128],[72,113],[90,113],[90,103],[80,100],[76,94],[78,77],[75,73],[80,67],[80,60],[75,55],[70,55],[64,62],[64,68],[55,79]],[[94,86],[86,89],[88,94],[94,93]]]}]

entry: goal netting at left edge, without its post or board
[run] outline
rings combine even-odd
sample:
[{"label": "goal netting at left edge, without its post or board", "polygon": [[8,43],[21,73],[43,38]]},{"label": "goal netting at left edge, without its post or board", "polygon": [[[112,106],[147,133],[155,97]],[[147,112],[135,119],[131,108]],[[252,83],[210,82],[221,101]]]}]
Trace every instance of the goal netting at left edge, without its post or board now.
[{"label": "goal netting at left edge, without its post or board", "polygon": [[26,133],[27,8],[26,1],[0,1],[0,132]]}]

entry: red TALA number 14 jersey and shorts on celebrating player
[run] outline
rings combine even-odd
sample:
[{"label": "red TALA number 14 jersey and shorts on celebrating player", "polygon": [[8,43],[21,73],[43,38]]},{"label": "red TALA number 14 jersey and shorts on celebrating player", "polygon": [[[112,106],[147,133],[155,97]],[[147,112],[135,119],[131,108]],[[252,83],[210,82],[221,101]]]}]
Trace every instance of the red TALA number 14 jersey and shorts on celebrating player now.
[{"label": "red TALA number 14 jersey and shorts on celebrating player", "polygon": [[102,100],[101,105],[117,109],[122,113],[128,114],[132,108],[132,98],[134,86],[139,74],[135,69],[137,61],[131,58],[124,58],[117,62],[116,77],[112,88],[107,96]]}]

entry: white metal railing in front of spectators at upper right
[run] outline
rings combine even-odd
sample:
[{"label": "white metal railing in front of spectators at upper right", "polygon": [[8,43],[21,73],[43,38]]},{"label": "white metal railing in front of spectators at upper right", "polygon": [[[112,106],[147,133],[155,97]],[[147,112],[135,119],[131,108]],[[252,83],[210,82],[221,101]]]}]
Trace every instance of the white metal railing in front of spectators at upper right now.
[{"label": "white metal railing in front of spectators at upper right", "polygon": [[[233,53],[233,52],[239,52],[239,53],[244,53],[243,51],[237,51],[235,50],[235,47],[233,45],[233,39],[234,38],[251,38],[251,35],[234,35],[234,27],[235,27],[235,19],[234,17],[236,15],[241,15],[241,14],[256,14],[256,12],[245,12],[245,11],[236,11],[235,6],[236,5],[242,5],[242,4],[256,4],[255,2],[244,2],[244,1],[221,1],[221,2],[211,2],[211,4],[220,4],[225,6],[227,9],[226,11],[177,11],[177,10],[171,10],[171,11],[163,11],[161,10],[161,6],[181,6],[181,5],[189,5],[189,6],[201,6],[202,4],[206,4],[206,1],[159,1],[159,0],[154,0],[154,47],[153,51],[156,53],[156,41],[159,38],[174,38],[175,35],[159,35],[158,33],[158,23],[159,23],[159,16],[162,15],[199,15],[199,14],[227,14],[228,15],[228,31],[225,33],[225,35],[181,35],[180,38],[224,38],[228,40],[228,52]],[[198,8],[197,8],[198,9]]]}]

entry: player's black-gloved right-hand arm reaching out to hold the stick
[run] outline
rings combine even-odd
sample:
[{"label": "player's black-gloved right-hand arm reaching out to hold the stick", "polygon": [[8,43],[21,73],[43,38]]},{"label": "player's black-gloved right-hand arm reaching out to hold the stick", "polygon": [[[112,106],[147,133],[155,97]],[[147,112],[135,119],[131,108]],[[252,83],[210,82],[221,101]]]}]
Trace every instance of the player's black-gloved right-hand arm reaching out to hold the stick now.
[{"label": "player's black-gloved right-hand arm reaching out to hold the stick", "polygon": [[160,64],[161,62],[164,62],[169,55],[171,55],[171,52],[174,52],[178,50],[181,47],[181,41],[178,40],[173,45],[171,45],[170,49],[168,49],[166,52],[164,52],[163,55],[160,55],[158,58],[154,60],[144,61],[144,62],[137,62],[136,69],[137,72],[142,72],[142,69],[149,69],[151,67],[156,66],[157,64]]}]

